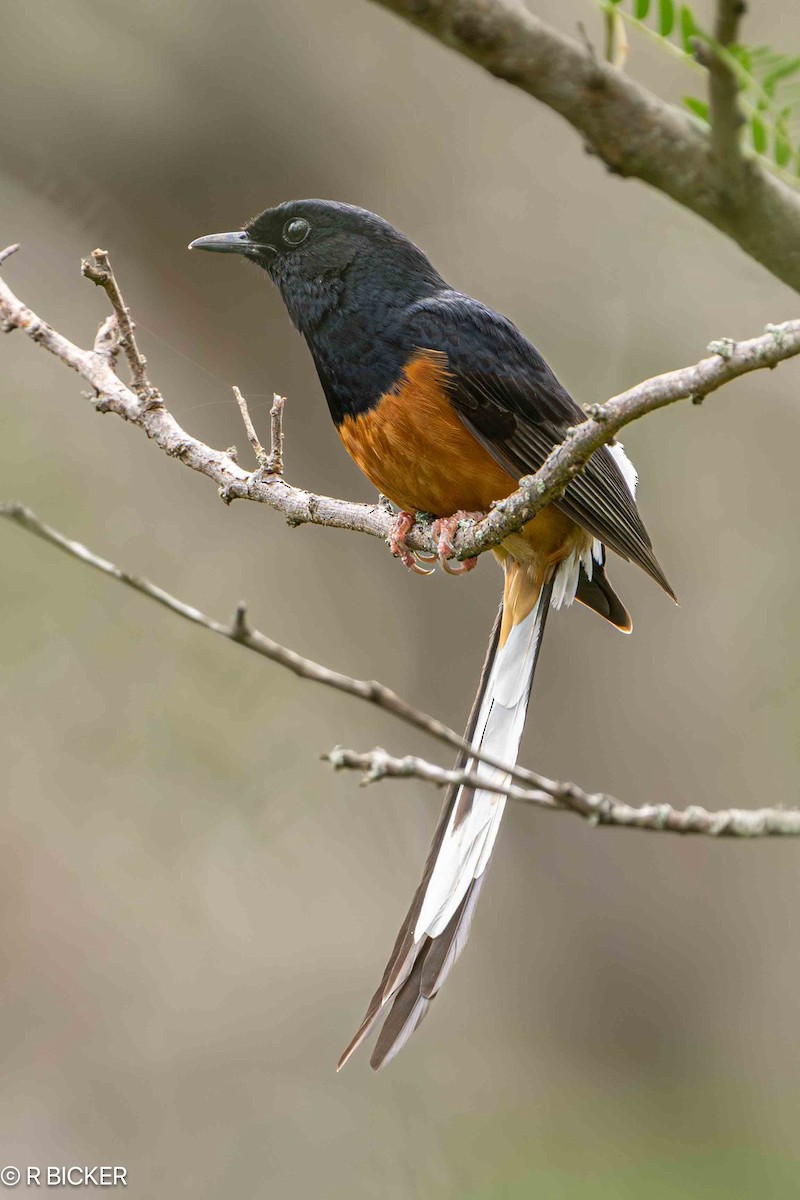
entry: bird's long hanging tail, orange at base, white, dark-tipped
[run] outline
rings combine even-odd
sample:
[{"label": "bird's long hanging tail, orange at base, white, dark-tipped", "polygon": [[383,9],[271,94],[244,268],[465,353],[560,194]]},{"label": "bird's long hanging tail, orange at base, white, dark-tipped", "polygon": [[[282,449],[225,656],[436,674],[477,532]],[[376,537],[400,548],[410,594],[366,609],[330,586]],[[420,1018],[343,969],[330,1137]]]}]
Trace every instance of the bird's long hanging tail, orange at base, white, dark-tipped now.
[{"label": "bird's long hanging tail, orange at base, white, dark-tipped", "polygon": [[[506,563],[498,613],[465,738],[473,746],[512,764],[528,712],[539,648],[551,606],[552,577],[542,586],[518,563]],[[469,937],[475,905],[494,847],[505,797],[491,784],[507,779],[476,763],[467,767],[486,779],[486,788],[450,787],[422,880],[403,922],[380,985],[359,1030],[339,1058],[339,1068],[368,1036],[393,1001],[373,1051],[379,1070],[398,1054],[417,1027]]]}]

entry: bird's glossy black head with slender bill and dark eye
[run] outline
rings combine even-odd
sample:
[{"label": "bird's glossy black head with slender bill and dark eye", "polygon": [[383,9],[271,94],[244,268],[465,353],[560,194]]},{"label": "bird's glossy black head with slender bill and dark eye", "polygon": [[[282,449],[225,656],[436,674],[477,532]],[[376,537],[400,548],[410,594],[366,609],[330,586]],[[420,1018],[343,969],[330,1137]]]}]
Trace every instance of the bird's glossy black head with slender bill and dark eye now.
[{"label": "bird's glossy black head with slender bill and dark eye", "polygon": [[333,200],[290,200],[241,232],[198,238],[190,250],[242,254],[281,289],[307,336],[345,296],[360,306],[408,304],[444,282],[414,242],[366,209]]}]

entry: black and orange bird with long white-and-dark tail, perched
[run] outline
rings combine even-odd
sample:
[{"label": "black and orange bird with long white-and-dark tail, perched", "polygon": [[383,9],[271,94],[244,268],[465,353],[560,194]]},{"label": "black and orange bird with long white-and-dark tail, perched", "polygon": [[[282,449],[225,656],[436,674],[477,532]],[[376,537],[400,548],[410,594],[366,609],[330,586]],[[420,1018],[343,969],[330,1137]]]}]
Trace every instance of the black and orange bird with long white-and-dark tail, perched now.
[{"label": "black and orange bird with long white-and-dark tail, perched", "polygon": [[[191,248],[242,254],[277,284],[348,454],[401,510],[393,548],[407,565],[416,566],[403,535],[417,511],[438,518],[439,557],[451,565],[455,523],[513,492],[585,420],[510,320],[451,288],[373,212],[296,200]],[[560,499],[494,550],[505,586],[467,728],[474,749],[516,763],[549,607],[577,599],[631,630],[606,548],[674,599],[636,508],[636,479],[622,446],[603,446]],[[464,947],[505,805],[492,784],[507,779],[465,762],[486,786],[449,791],[422,881],[339,1066],[391,1004],[371,1060],[375,1069],[389,1062]]]}]

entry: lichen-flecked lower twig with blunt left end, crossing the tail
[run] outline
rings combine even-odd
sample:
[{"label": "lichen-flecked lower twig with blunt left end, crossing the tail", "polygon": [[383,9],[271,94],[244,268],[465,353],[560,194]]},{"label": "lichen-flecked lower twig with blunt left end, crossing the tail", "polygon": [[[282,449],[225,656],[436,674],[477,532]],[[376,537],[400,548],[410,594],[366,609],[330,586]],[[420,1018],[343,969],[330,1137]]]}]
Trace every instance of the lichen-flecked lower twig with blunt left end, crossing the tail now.
[{"label": "lichen-flecked lower twig with blunt left end, crossing the tail", "polygon": [[[363,772],[362,784],[373,784],[380,779],[422,779],[437,787],[450,784],[486,786],[480,772],[445,770],[444,767],[414,755],[395,758],[380,748],[357,754],[344,746],[335,746],[324,757],[335,770]],[[712,812],[699,805],[674,809],[669,804],[643,804],[634,808],[615,800],[613,796],[584,792],[575,784],[542,780],[542,785],[524,788],[492,780],[492,791],[521,804],[573,812],[595,826],[646,829],[651,833],[706,834],[712,838],[800,836],[800,809],[722,809]]]}]

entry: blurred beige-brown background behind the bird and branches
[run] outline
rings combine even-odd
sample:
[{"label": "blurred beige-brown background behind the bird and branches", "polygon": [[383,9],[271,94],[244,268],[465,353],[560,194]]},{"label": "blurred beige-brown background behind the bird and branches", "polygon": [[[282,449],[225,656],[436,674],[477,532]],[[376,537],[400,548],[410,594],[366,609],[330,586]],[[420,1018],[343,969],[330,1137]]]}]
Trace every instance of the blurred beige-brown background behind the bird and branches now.
[{"label": "blurred beige-brown background behind the bird and branches", "polygon": [[[585,0],[533,10],[601,42]],[[700,19],[709,5],[696,5]],[[751,43],[800,47],[790,0]],[[633,38],[628,68],[697,91]],[[288,396],[291,482],[372,499],[267,281],[187,254],[281,200],[374,209],[506,312],[581,402],[795,317],[724,238],[609,176],[551,112],[363,0],[29,0],[4,14],[10,284],[90,344],[109,250],[186,427],[249,449]],[[2,486],[212,616],[375,677],[461,727],[500,576],[420,580],[289,530],[0,347]],[[548,628],[523,760],[638,804],[798,800],[798,366],[625,438],[675,608],[634,569],[619,637]],[[333,1064],[421,871],[440,796],[320,754],[450,756],[0,528],[4,1162],[110,1163],[128,1194],[795,1196],[796,842],[596,830],[510,806],[468,952],[410,1046]]]}]

